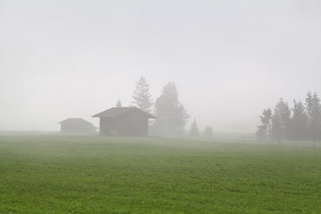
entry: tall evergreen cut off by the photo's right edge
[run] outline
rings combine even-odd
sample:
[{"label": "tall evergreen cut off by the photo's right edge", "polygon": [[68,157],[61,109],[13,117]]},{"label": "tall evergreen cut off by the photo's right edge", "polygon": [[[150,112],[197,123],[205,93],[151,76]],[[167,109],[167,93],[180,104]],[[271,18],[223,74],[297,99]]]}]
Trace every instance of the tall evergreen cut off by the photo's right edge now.
[{"label": "tall evergreen cut off by the photo's right edge", "polygon": [[312,141],[321,139],[321,105],[320,98],[315,92],[312,96],[310,91],[307,92],[305,103],[307,106],[307,134]]}]

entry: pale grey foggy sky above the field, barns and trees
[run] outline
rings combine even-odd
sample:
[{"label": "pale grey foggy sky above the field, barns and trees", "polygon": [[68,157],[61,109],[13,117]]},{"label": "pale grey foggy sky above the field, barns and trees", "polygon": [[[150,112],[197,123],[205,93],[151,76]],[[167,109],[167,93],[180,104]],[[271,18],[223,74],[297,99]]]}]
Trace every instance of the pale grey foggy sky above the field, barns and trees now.
[{"label": "pale grey foggy sky above the field, barns and trees", "polygon": [[[321,94],[321,1],[0,1],[0,130],[59,131],[168,81],[200,131]],[[188,123],[187,128],[190,126]]]}]

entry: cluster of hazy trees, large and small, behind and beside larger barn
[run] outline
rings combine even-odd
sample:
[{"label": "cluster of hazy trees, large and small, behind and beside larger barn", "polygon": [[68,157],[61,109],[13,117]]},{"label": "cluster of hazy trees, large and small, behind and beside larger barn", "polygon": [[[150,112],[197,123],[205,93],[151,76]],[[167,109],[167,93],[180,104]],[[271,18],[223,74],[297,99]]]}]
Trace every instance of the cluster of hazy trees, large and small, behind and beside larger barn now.
[{"label": "cluster of hazy trees, large and small, behind and beside larger barn", "polygon": [[[161,96],[153,102],[151,93],[149,92],[149,84],[146,78],[141,78],[136,82],[133,90],[133,101],[130,106],[136,106],[147,113],[154,114],[157,118],[150,124],[150,132],[160,136],[183,136],[185,134],[185,126],[190,118],[188,111],[183,103],[178,99],[178,89],[174,82],[168,82],[161,91]],[[121,100],[118,99],[116,107],[121,107]],[[189,130],[191,137],[198,137],[197,123],[194,121]],[[204,134],[210,137],[213,135],[212,128],[207,126]]]}]

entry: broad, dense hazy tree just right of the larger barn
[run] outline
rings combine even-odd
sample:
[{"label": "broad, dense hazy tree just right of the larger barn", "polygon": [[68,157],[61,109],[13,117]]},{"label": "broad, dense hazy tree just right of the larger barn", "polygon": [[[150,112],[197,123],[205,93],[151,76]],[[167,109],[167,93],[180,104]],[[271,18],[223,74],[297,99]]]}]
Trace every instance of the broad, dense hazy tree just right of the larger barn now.
[{"label": "broad, dense hazy tree just right of the larger barn", "polygon": [[188,121],[187,111],[178,100],[175,83],[169,82],[163,87],[161,96],[156,99],[154,123],[156,133],[161,135],[180,136],[185,131]]}]

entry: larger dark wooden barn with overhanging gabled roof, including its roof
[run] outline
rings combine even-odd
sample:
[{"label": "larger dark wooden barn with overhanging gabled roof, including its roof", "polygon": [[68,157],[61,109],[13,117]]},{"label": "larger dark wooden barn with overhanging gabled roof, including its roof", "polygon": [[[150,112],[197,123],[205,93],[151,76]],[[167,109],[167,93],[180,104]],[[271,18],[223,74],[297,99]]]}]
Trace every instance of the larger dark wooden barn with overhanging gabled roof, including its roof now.
[{"label": "larger dark wooden barn with overhanging gabled roof, including its roof", "polygon": [[148,119],[156,116],[136,107],[115,107],[97,113],[101,136],[148,136]]}]

